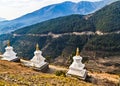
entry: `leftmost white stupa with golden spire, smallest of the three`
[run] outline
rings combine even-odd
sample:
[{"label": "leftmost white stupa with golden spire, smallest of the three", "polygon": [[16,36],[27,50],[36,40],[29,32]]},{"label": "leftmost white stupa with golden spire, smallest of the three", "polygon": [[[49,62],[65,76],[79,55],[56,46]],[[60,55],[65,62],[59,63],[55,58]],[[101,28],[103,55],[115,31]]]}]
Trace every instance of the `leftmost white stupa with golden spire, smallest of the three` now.
[{"label": "leftmost white stupa with golden spire, smallest of the three", "polygon": [[10,41],[7,42],[7,47],[5,48],[5,53],[1,55],[1,60],[15,61],[18,59],[17,53],[13,51],[13,47],[10,46]]}]

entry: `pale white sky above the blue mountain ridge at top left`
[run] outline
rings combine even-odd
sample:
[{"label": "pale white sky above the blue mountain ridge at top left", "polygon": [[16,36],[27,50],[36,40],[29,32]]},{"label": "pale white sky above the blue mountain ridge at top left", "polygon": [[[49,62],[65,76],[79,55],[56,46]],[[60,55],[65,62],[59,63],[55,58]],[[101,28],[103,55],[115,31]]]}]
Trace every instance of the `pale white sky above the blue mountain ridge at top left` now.
[{"label": "pale white sky above the blue mountain ridge at top left", "polygon": [[7,20],[18,18],[50,4],[64,1],[100,1],[100,0],[0,0],[0,17]]}]

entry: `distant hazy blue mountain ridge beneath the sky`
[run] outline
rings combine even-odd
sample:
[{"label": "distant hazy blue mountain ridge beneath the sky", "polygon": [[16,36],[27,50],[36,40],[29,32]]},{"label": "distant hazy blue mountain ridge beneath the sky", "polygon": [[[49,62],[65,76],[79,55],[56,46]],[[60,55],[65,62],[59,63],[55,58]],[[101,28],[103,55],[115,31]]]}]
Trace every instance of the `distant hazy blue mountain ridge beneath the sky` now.
[{"label": "distant hazy blue mountain ridge beneath the sky", "polygon": [[0,23],[0,34],[9,33],[19,28],[60,16],[67,16],[71,14],[87,15],[114,1],[115,0],[103,0],[99,2],[82,1],[79,3],[64,2],[46,6],[15,20]]}]

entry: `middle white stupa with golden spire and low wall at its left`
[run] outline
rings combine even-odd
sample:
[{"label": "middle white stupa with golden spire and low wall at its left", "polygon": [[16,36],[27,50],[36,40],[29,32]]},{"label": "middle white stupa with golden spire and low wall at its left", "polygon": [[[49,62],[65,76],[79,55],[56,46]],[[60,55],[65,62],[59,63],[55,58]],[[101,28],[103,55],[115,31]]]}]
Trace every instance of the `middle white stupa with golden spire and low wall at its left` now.
[{"label": "middle white stupa with golden spire and low wall at its left", "polygon": [[34,57],[30,61],[25,61],[21,59],[21,62],[28,67],[37,68],[37,70],[48,69],[48,63],[45,62],[45,58],[42,56],[42,51],[39,49],[39,45],[36,44],[36,51],[34,52]]}]

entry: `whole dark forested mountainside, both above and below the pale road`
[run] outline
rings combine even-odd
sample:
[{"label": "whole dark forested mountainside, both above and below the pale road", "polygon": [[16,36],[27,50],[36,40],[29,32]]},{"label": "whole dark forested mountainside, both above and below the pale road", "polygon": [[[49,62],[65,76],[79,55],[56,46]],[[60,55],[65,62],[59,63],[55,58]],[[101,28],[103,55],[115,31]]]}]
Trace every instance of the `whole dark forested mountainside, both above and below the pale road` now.
[{"label": "whole dark forested mountainside, both above and below the pale road", "polygon": [[3,52],[9,39],[18,56],[26,59],[32,58],[36,43],[46,58],[62,58],[62,64],[69,62],[76,47],[90,58],[120,55],[119,8],[120,1],[90,15],[59,17],[1,35],[0,51]]}]

